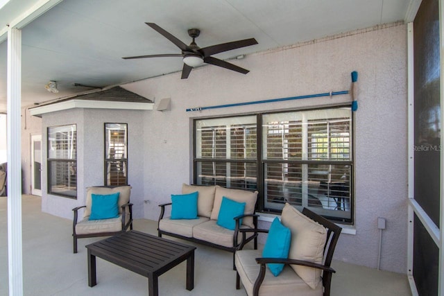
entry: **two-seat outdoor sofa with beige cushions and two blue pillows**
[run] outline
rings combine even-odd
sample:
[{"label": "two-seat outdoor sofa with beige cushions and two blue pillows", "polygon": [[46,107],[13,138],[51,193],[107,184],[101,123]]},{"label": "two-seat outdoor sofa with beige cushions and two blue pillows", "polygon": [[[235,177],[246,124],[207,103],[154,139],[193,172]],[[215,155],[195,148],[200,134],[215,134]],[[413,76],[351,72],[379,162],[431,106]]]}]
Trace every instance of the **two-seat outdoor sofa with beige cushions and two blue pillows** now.
[{"label": "two-seat outdoor sofa with beige cushions and two blue pillows", "polygon": [[[189,218],[185,215],[185,218],[181,218],[177,211],[194,204],[186,200],[190,195],[197,195],[196,216]],[[232,252],[234,267],[234,253],[242,243],[239,229],[257,229],[257,191],[227,189],[217,185],[182,184],[182,195],[171,195],[171,200],[172,202],[159,205],[161,211],[157,225],[158,236],[164,234]],[[175,200],[186,204],[175,204]],[[244,204],[243,211],[239,209],[239,204]],[[167,206],[172,207],[171,215],[164,217]],[[249,233],[242,244],[250,241],[254,241],[256,250],[257,232]]]}]

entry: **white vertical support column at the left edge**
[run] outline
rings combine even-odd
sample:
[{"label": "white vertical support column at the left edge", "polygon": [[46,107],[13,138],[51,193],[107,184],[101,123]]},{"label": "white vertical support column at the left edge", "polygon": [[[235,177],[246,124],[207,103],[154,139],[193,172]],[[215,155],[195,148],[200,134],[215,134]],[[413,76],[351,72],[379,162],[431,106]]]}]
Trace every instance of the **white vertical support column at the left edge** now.
[{"label": "white vertical support column at the left edge", "polygon": [[8,29],[8,270],[9,295],[23,295],[22,264],[22,31]]}]

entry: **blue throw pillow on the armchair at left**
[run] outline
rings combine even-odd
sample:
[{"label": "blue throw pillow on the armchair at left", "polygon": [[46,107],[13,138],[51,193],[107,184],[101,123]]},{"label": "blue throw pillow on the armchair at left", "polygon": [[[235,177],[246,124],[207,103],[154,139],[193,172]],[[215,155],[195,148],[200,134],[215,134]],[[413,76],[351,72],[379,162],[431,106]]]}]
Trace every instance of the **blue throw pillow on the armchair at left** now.
[{"label": "blue throw pillow on the armchair at left", "polygon": [[91,215],[89,220],[119,217],[119,192],[108,195],[91,195]]}]

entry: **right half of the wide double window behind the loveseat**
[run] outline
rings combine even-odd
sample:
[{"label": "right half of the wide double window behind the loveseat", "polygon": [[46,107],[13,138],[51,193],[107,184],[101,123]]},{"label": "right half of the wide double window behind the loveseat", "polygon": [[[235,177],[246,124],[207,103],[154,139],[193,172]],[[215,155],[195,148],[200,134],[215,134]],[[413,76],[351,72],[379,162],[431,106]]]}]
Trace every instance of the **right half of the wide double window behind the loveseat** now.
[{"label": "right half of the wide double window behind the loveseat", "polygon": [[350,108],[264,114],[264,207],[351,218]]}]

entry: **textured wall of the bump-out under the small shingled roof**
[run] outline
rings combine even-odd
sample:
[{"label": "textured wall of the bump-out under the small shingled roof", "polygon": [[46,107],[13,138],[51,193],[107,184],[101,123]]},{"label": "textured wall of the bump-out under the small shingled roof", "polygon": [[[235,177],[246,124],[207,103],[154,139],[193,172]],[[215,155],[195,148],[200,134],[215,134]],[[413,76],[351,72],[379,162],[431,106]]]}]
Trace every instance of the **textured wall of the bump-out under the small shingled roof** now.
[{"label": "textured wall of the bump-out under the small shingled roof", "polygon": [[[134,218],[143,218],[143,130],[142,111],[77,109],[52,112],[42,116],[42,141],[44,159],[47,158],[46,128],[56,125],[77,124],[77,199],[47,193],[47,175],[42,176],[42,210],[72,219],[72,209],[84,205],[86,188],[102,186],[104,182],[104,124],[128,123],[128,182],[133,189],[131,202]],[[46,161],[44,161],[44,171]]]}]

